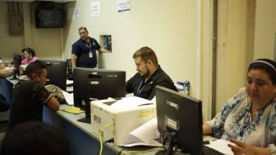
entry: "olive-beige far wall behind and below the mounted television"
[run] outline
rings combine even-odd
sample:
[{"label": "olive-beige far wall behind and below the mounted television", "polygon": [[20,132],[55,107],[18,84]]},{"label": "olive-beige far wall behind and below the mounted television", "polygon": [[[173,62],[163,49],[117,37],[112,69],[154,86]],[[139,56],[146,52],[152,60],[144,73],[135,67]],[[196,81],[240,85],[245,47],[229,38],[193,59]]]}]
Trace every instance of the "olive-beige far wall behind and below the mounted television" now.
[{"label": "olive-beige far wall behind and below the mounted television", "polygon": [[37,52],[39,59],[61,59],[61,30],[37,29],[34,25],[34,11],[32,3],[20,3],[23,12],[24,32],[21,36],[8,34],[8,4],[0,2],[0,46],[1,57],[12,60],[13,54],[21,54],[24,47],[32,47]]}]

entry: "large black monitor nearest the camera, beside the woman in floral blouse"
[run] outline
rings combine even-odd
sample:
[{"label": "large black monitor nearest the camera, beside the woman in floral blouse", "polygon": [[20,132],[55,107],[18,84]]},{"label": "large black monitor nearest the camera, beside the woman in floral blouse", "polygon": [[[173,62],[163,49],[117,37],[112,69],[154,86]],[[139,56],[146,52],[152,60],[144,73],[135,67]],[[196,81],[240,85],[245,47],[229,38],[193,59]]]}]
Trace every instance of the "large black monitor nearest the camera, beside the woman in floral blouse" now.
[{"label": "large black monitor nearest the camera, beside the woman in floral blouse", "polygon": [[201,154],[201,101],[161,86],[156,87],[155,95],[157,128],[161,136],[171,140],[169,149],[157,154],[175,154],[177,152],[172,153],[173,147],[192,155]]}]

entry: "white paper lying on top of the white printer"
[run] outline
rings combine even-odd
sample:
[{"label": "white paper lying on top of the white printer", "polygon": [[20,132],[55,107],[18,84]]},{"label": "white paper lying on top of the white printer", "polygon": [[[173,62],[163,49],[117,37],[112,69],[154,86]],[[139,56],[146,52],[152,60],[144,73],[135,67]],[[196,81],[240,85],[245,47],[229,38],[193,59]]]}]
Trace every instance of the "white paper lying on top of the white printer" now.
[{"label": "white paper lying on top of the white printer", "polygon": [[122,108],[128,108],[128,107],[137,107],[139,105],[146,105],[146,104],[152,104],[152,101],[149,101],[147,99],[143,99],[137,96],[130,96],[126,97],[124,99],[120,99],[119,101],[116,101],[110,107],[113,109],[122,109]]}]

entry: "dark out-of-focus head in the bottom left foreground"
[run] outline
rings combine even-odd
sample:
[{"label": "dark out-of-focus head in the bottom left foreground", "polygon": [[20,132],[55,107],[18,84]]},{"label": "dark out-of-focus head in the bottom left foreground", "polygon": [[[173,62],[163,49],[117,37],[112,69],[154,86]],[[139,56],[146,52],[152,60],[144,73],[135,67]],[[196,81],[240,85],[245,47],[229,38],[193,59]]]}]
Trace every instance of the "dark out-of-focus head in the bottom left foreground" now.
[{"label": "dark out-of-focus head in the bottom left foreground", "polygon": [[16,125],[3,138],[1,155],[70,155],[70,143],[59,128],[42,122]]}]

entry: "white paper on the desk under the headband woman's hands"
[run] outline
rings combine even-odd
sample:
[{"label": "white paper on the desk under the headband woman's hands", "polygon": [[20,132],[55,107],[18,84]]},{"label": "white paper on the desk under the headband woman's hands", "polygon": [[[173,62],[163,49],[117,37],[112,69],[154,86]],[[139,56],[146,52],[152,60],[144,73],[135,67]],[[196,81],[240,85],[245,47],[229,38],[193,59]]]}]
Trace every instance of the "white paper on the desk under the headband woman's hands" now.
[{"label": "white paper on the desk under the headband woman's hands", "polygon": [[234,153],[231,151],[231,148],[228,147],[228,144],[235,145],[234,143],[231,143],[230,141],[218,139],[217,141],[211,141],[210,144],[208,144],[206,146],[216,149],[217,151],[219,151],[223,154],[226,154],[226,155],[234,155]]}]

